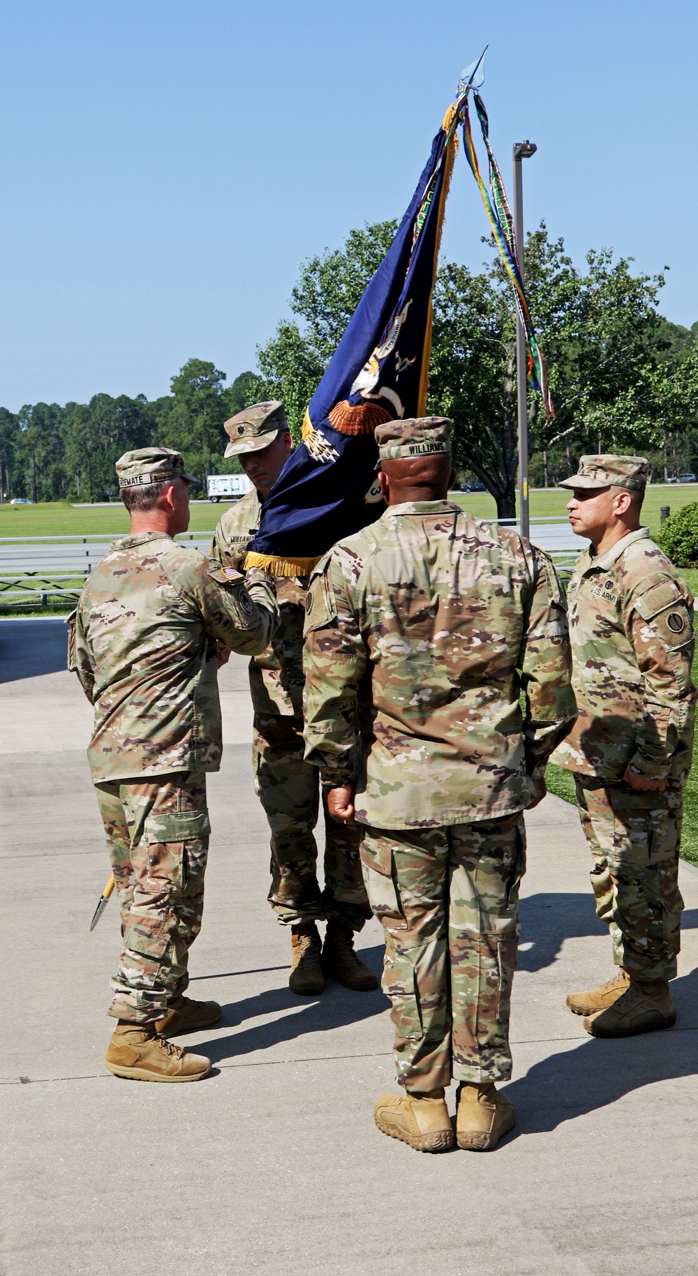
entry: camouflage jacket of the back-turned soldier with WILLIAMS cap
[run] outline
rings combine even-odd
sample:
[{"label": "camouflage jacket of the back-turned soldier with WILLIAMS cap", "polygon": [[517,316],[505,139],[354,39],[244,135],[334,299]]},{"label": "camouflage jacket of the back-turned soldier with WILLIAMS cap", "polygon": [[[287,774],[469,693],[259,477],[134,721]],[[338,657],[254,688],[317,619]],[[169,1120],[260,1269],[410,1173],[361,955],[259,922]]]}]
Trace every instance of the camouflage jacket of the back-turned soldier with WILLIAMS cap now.
[{"label": "camouflage jacket of the back-turned soldier with WILLIAMS cap", "polygon": [[574,718],[550,559],[448,501],[392,505],[336,545],[305,642],[306,758],[324,783],[356,775],[379,828],[521,810]]}]

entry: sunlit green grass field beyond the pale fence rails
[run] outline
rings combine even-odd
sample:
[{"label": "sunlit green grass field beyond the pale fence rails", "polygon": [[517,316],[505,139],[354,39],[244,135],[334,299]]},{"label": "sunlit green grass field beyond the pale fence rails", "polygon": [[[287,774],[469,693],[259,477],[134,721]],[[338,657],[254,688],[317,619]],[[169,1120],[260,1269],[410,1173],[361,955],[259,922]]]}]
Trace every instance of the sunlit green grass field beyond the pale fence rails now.
[{"label": "sunlit green grass field beyond the pale fence rails", "polygon": [[[453,493],[463,509],[476,518],[495,518],[496,505],[489,493]],[[531,493],[531,518],[567,518],[565,503],[569,495],[561,487]],[[698,484],[671,485],[670,487],[648,487],[643,505],[643,522],[655,535],[660,530],[660,505],[669,505],[672,512],[698,500]],[[209,532],[216,527],[227,503],[212,505],[211,501],[191,505],[190,531]],[[38,505],[0,505],[0,537],[11,536],[85,536],[92,532],[125,535],[129,530],[126,510],[120,501],[111,507],[78,508],[63,501]]]}]

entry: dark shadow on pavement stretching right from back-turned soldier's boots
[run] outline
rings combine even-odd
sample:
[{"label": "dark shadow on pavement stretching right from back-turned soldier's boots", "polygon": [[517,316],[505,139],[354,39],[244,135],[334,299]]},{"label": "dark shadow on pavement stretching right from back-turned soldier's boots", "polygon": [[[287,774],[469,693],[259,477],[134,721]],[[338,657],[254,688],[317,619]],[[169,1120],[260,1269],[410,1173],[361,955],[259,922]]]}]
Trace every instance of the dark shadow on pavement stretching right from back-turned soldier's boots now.
[{"label": "dark shadow on pavement stretching right from back-turned soldier's boots", "polygon": [[541,1134],[656,1081],[695,1076],[698,967],[672,981],[671,995],[678,1011],[675,1028],[618,1041],[590,1036],[574,1050],[533,1064],[507,1086],[517,1108],[517,1133]]}]

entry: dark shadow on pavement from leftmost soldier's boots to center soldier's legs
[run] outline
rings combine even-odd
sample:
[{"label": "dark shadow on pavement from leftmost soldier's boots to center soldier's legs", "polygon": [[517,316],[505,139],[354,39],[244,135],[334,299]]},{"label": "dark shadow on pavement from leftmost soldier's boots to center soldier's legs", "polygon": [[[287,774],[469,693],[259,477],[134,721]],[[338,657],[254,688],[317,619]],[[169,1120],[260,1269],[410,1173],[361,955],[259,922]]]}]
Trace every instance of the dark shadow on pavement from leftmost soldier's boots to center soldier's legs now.
[{"label": "dark shadow on pavement from leftmost soldier's boots to center soldier's legs", "polygon": [[[383,952],[383,944],[361,949],[361,961],[365,961],[376,975],[382,971]],[[269,1050],[308,1032],[328,1032],[330,1028],[359,1023],[361,1020],[383,1014],[389,1004],[380,989],[375,993],[351,993],[333,980],[328,980],[324,993],[315,998],[297,997],[287,986],[272,988],[256,997],[246,997],[241,1002],[223,1005],[221,1026],[232,1027],[244,1023],[245,1020],[258,1018],[260,1014],[278,1014],[282,1011],[292,1009],[296,1011],[295,1014],[285,1014],[283,1018],[273,1020],[271,1023],[258,1023],[234,1036],[198,1041],[197,1051],[207,1054],[212,1063],[221,1063],[223,1059],[253,1054],[255,1050]],[[387,1041],[385,1049],[390,1049],[390,1040]]]}]

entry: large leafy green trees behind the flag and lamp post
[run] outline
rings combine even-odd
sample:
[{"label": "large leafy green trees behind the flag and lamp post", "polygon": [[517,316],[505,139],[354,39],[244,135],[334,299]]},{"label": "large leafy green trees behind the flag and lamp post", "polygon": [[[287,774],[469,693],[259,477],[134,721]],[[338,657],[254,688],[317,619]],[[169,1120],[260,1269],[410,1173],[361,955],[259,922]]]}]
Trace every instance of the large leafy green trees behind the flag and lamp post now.
[{"label": "large leafy green trees behind the flag and lamp post", "polygon": [[[297,427],[396,222],[351,231],[311,258],[291,296],[296,318],[258,350],[262,384],[286,401]],[[494,253],[480,272],[447,262],[434,287],[427,411],[453,420],[461,475],[480,478],[500,517],[514,513],[517,478],[516,315]],[[657,313],[664,276],[590,250],[583,265],[545,225],[527,237],[526,285],[555,403],[546,420],[528,393],[531,482],[554,485],[586,452],[648,456],[655,480],[698,466],[698,324]]]}]

